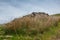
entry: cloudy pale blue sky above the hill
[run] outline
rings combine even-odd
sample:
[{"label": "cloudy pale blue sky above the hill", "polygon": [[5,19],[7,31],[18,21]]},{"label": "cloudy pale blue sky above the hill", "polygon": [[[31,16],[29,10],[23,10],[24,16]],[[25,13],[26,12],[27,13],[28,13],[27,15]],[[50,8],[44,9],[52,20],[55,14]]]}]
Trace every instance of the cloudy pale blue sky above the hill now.
[{"label": "cloudy pale blue sky above the hill", "polygon": [[32,12],[60,13],[60,0],[0,0],[0,24]]}]

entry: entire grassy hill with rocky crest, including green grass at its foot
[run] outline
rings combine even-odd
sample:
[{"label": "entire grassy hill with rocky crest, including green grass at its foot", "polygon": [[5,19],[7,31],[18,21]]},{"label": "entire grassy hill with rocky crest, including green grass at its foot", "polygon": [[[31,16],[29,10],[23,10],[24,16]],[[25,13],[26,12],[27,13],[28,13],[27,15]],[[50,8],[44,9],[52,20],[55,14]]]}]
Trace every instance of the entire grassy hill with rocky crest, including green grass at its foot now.
[{"label": "entire grassy hill with rocky crest, including green grass at its foot", "polygon": [[60,16],[32,12],[4,24],[1,30],[4,32],[1,40],[60,40]]}]

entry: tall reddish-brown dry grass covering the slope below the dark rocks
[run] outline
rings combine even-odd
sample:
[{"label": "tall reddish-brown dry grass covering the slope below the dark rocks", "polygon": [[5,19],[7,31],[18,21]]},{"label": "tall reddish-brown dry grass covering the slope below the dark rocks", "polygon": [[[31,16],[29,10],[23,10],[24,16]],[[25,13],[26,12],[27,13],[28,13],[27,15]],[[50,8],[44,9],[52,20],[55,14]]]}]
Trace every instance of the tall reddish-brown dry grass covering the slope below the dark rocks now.
[{"label": "tall reddish-brown dry grass covering the slope below the dark rocks", "polygon": [[[25,16],[11,21],[5,24],[7,30],[13,30],[13,32],[24,32],[24,34],[35,34],[38,32],[43,32],[52,26],[57,26],[60,21],[60,17],[57,16],[47,16],[47,15],[35,15],[35,16]],[[7,32],[8,33],[8,32]]]}]

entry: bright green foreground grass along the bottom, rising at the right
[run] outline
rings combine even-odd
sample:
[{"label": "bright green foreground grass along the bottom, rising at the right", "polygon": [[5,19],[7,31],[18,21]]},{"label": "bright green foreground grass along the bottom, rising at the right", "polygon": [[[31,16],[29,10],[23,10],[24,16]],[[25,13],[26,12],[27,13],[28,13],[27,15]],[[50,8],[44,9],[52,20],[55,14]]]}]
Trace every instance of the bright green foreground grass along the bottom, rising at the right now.
[{"label": "bright green foreground grass along the bottom, rising at the right", "polygon": [[[2,28],[0,28],[1,30]],[[47,31],[44,31],[43,34],[37,34],[34,36],[29,35],[4,35],[0,34],[0,40],[58,40],[57,35],[60,35],[60,23],[58,23],[57,27],[51,27]],[[2,31],[2,30],[1,30]],[[0,31],[0,33],[1,33]],[[4,31],[3,31],[4,32]]]}]

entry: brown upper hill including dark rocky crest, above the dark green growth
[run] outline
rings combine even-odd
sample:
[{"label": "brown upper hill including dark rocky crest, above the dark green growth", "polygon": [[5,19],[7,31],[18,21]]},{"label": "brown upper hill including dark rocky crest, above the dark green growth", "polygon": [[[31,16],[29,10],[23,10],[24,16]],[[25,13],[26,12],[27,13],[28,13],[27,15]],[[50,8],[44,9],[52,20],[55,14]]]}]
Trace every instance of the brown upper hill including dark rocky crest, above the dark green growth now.
[{"label": "brown upper hill including dark rocky crest, above the dark green growth", "polygon": [[44,12],[32,12],[32,14],[14,19],[5,25],[10,30],[29,28],[28,30],[43,32],[46,28],[57,26],[57,21],[60,21],[60,17],[49,16]]}]

